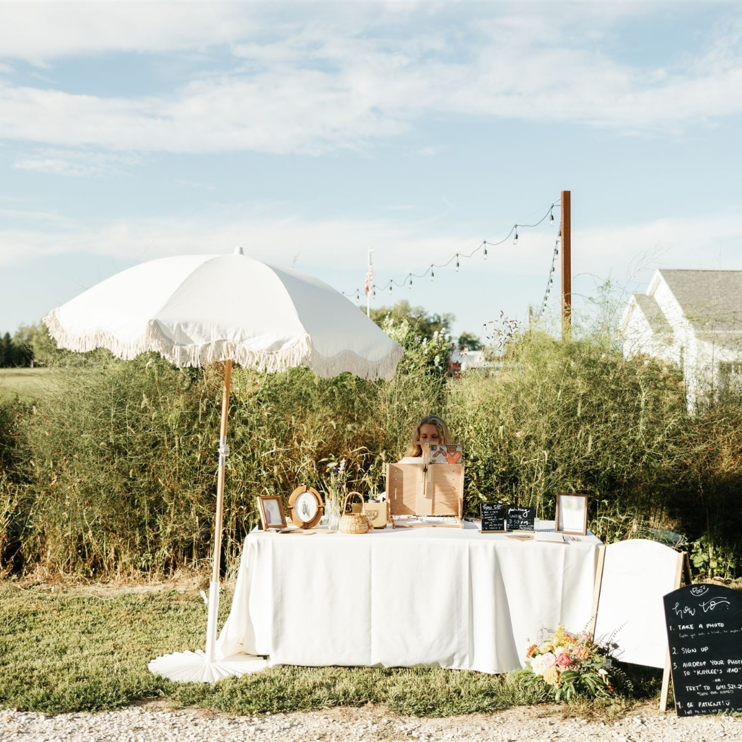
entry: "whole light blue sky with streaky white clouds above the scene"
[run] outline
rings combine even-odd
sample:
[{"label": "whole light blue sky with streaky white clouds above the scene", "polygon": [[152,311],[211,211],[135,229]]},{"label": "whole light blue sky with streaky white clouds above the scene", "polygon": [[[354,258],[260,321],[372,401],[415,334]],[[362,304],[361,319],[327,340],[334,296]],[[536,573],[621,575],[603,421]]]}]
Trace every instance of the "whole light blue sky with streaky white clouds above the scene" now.
[{"label": "whole light blue sky with streaky white clouds above the scene", "polygon": [[[372,247],[401,281],[562,189],[578,308],[742,269],[741,124],[736,3],[0,3],[0,332],[237,245],[346,292]],[[375,305],[523,319],[555,232]]]}]

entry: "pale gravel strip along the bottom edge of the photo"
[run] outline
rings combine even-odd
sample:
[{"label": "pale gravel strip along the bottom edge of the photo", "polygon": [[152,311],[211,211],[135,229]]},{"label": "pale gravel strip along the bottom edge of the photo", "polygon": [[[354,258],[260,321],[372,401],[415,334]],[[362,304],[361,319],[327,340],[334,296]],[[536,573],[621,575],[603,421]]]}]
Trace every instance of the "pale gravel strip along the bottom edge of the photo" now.
[{"label": "pale gravel strip along the bottom edge of the photo", "polygon": [[615,722],[564,719],[555,709],[508,709],[490,715],[420,719],[383,707],[236,717],[163,703],[116,712],[45,716],[0,710],[0,740],[36,741],[387,741],[616,740],[716,742],[742,740],[742,718],[677,718],[649,706]]}]

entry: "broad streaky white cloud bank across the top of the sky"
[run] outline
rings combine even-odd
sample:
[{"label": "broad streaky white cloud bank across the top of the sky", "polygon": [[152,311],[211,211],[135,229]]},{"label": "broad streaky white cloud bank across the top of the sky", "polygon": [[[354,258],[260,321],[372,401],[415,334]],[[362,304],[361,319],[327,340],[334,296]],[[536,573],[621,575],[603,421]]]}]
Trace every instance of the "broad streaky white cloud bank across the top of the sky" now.
[{"label": "broad streaky white cloud bank across the top of the sky", "polygon": [[[86,53],[232,54],[229,70],[202,71],[166,94],[0,84],[0,137],[114,151],[319,154],[367,147],[424,116],[678,133],[742,113],[737,16],[694,54],[632,66],[608,56],[616,39],[601,40],[616,17],[651,9],[598,5],[453,13],[420,4],[398,15],[377,4],[332,4],[332,12],[292,4],[292,13],[266,4],[0,4],[0,56],[48,64]],[[452,27],[433,23],[446,13]],[[33,34],[19,33],[31,25]]]}]

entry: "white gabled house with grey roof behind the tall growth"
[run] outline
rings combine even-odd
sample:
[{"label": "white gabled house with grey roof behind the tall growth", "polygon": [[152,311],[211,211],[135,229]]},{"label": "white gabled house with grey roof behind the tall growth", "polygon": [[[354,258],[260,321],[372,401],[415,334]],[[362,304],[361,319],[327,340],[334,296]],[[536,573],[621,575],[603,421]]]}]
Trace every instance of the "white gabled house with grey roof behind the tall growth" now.
[{"label": "white gabled house with grey roof behind the tall growth", "polygon": [[657,270],[619,325],[623,354],[647,353],[683,371],[689,409],[742,383],[742,271]]}]

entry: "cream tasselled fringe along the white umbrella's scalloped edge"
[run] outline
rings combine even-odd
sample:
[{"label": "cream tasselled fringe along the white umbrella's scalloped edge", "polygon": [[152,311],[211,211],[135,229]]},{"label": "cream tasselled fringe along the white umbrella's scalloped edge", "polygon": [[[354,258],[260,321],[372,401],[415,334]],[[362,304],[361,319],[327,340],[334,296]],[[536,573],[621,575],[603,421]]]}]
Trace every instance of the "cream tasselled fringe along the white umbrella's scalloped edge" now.
[{"label": "cream tasselled fringe along the white umbrella's scalloped edge", "polygon": [[229,340],[216,340],[203,345],[182,345],[164,335],[157,322],[150,322],[144,335],[139,339],[122,341],[113,332],[103,328],[96,328],[82,335],[68,332],[59,319],[57,309],[53,309],[44,318],[44,322],[59,347],[82,353],[102,347],[125,361],[131,361],[140,353],[156,351],[181,368],[205,366],[215,361],[231,359],[242,367],[269,373],[306,365],[318,376],[324,378],[349,371],[361,378],[373,380],[393,378],[398,361],[403,354],[401,346],[395,344],[393,349],[378,361],[370,361],[350,350],[326,356],[313,347],[312,339],[306,333],[291,347],[275,351],[256,351]]}]

